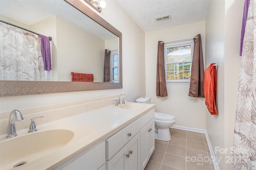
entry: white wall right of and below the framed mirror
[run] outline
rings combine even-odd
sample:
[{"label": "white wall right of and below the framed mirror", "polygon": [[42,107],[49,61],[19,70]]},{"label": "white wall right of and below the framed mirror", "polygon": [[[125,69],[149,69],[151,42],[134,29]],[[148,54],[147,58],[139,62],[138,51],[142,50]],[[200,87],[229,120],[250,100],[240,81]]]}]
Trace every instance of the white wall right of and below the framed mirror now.
[{"label": "white wall right of and below the framed mirror", "polygon": [[[99,96],[125,93],[128,101],[145,96],[145,35],[142,29],[128,16],[116,1],[106,1],[107,7],[98,13],[104,20],[122,32],[123,88],[58,94],[10,96],[0,98],[0,112]],[[114,11],[114,12],[113,12]],[[118,14],[118,15],[117,15]]]}]

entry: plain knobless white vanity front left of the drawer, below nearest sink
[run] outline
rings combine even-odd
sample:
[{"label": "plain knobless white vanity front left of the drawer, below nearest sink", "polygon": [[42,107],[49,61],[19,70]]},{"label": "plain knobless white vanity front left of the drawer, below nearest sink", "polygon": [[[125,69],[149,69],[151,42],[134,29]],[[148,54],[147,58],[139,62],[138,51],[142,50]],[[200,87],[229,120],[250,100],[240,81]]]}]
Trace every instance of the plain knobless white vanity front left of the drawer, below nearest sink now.
[{"label": "plain knobless white vanity front left of the drawer, below nearest sink", "polygon": [[80,153],[72,160],[56,168],[61,170],[106,170],[106,142],[102,142],[93,149]]}]

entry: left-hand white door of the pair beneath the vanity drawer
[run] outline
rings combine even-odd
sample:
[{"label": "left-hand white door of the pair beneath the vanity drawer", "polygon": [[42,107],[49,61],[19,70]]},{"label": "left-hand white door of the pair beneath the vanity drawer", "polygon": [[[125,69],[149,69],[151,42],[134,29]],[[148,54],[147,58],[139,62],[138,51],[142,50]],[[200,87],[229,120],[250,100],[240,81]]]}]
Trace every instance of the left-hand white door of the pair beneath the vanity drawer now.
[{"label": "left-hand white door of the pair beneath the vanity drawer", "polygon": [[106,162],[107,170],[127,170],[128,145],[124,145],[109,161]]}]

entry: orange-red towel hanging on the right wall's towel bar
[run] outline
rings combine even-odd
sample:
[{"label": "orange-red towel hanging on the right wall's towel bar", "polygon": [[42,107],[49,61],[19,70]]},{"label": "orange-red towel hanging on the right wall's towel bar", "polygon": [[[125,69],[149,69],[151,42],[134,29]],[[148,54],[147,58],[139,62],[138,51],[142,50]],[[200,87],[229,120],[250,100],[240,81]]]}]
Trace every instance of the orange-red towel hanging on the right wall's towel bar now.
[{"label": "orange-red towel hanging on the right wall's towel bar", "polygon": [[215,63],[210,64],[204,72],[204,97],[205,105],[207,106],[211,115],[217,115],[215,106],[217,94],[217,72]]}]

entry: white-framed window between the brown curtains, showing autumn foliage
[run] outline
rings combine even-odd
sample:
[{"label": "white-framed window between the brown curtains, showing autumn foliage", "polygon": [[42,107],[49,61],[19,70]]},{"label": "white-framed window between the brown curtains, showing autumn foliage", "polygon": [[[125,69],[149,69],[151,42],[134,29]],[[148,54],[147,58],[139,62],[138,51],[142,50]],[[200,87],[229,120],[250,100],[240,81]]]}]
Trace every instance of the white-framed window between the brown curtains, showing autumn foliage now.
[{"label": "white-framed window between the brown curtains, showing autumn foliage", "polygon": [[194,41],[164,44],[166,82],[190,82]]}]

